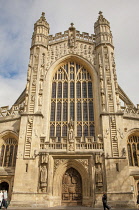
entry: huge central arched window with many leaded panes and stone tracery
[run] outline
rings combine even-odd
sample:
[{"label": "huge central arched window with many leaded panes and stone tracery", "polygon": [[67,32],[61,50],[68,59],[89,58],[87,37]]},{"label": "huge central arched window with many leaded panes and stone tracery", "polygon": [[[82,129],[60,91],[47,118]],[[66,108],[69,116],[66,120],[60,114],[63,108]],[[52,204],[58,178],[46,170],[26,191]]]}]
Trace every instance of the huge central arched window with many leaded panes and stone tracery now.
[{"label": "huge central arched window with many leaded panes and stone tracery", "polygon": [[75,123],[75,137],[95,135],[93,84],[81,64],[69,61],[55,73],[50,115],[50,137],[67,136],[70,119]]}]

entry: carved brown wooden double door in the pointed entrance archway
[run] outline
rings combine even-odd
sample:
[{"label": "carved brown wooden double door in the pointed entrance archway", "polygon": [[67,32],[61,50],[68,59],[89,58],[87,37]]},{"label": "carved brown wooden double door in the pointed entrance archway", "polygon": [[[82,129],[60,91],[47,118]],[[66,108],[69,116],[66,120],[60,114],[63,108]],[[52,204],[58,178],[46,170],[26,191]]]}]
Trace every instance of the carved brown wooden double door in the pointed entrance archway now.
[{"label": "carved brown wooden double door in the pointed entrance archway", "polygon": [[82,205],[82,179],[72,167],[66,170],[62,178],[62,205]]}]

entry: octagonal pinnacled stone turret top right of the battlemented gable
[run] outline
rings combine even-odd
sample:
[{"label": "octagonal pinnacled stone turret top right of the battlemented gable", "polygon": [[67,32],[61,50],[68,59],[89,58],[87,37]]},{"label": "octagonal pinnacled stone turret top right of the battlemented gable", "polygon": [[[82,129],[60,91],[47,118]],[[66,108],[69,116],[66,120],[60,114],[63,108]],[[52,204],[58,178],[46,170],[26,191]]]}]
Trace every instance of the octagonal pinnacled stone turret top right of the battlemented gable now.
[{"label": "octagonal pinnacled stone turret top right of the battlemented gable", "polygon": [[94,24],[94,32],[96,35],[96,45],[105,43],[113,45],[110,23],[103,17],[102,12],[99,12],[98,20]]}]

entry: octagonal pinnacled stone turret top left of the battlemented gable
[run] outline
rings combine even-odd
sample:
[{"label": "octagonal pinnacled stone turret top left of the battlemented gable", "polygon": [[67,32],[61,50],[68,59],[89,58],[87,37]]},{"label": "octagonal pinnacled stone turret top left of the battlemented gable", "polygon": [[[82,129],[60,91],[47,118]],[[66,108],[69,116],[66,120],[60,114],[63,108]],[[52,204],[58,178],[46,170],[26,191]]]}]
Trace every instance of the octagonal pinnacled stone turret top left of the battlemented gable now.
[{"label": "octagonal pinnacled stone turret top left of the battlemented gable", "polygon": [[43,46],[47,47],[49,29],[50,29],[50,27],[45,19],[45,13],[42,12],[42,16],[34,24],[34,32],[32,35],[31,47],[34,45],[43,45]]}]

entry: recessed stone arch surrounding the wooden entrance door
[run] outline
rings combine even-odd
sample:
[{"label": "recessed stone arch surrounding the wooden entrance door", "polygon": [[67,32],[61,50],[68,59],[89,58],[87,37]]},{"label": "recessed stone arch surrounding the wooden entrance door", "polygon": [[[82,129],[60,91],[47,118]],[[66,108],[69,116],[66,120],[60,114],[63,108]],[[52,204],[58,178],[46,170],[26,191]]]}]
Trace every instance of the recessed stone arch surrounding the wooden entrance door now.
[{"label": "recessed stone arch surrounding the wooden entrance door", "polygon": [[[76,169],[82,179],[82,196],[87,197],[90,195],[90,181],[87,170],[85,167],[79,163],[77,160],[65,160],[63,161],[55,171],[53,179],[53,196],[61,195],[62,190],[62,178],[67,169],[74,168]],[[57,186],[55,188],[55,186]]]}]

